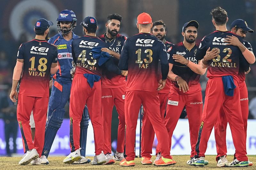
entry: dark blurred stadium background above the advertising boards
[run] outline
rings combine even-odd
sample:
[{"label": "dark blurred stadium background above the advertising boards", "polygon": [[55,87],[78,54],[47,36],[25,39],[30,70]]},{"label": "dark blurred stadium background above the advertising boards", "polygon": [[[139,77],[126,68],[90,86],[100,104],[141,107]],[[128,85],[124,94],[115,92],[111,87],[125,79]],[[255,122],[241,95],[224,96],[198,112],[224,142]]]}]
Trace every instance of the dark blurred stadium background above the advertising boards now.
[{"label": "dark blurred stadium background above the advertising boards", "polygon": [[[19,6],[21,3],[23,5]],[[100,35],[106,31],[107,16],[118,13],[123,16],[120,33],[129,37],[138,33],[136,27],[138,14],[147,12],[153,21],[162,19],[165,22],[167,31],[165,39],[172,43],[183,40],[181,29],[184,23],[190,20],[198,21],[199,29],[196,42],[200,43],[204,35],[215,30],[210,11],[217,6],[221,6],[228,12],[228,29],[232,21],[241,18],[247,22],[250,28],[255,30],[255,0],[2,0],[0,5],[0,118],[4,121],[16,120],[15,114],[4,114],[2,109],[8,105],[6,100],[12,85],[12,72],[16,63],[18,48],[22,42],[29,41],[34,37],[33,27],[36,19],[46,18],[56,24],[59,12],[69,9],[73,10],[77,17],[74,33],[83,36],[82,26],[79,23],[84,17],[91,15],[98,20],[97,35]],[[52,26],[50,31],[49,37],[56,34],[56,25]],[[256,51],[256,33],[247,33],[245,40],[249,41]],[[201,77],[203,96],[207,81],[205,75]],[[253,64],[251,72],[246,77],[249,100],[254,98],[256,94],[255,77],[256,66]],[[66,109],[66,118],[68,118],[68,105],[66,105]],[[249,118],[252,119],[253,116],[249,115]],[[117,113],[114,108],[113,139],[117,135],[117,124]]]}]

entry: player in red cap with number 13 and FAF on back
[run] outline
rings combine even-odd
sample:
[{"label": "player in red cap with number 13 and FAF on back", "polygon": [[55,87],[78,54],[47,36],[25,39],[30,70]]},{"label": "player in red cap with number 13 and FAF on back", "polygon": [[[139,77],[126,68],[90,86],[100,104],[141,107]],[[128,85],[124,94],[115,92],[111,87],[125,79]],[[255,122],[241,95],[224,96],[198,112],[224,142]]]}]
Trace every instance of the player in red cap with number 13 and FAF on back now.
[{"label": "player in red cap with number 13 and FAF on back", "polygon": [[[172,165],[168,144],[168,132],[160,115],[157,89],[164,88],[169,65],[164,43],[150,33],[153,23],[148,13],[141,13],[137,18],[139,34],[128,38],[121,52],[119,68],[129,72],[126,81],[125,114],[125,153],[126,158],[120,166],[135,166],[134,142],[136,125],[141,104],[145,108],[156,137],[162,146],[162,157],[154,161],[156,166]],[[158,62],[161,62],[162,79],[158,79]],[[160,85],[158,85],[158,82]]]}]

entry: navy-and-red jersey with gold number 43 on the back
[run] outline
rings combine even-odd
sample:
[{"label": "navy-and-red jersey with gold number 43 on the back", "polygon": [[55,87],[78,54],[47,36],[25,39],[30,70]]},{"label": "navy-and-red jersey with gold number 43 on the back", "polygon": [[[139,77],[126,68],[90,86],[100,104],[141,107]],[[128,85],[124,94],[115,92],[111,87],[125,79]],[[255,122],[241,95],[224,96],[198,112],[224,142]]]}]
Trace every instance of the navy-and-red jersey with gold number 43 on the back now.
[{"label": "navy-and-red jersey with gold number 43 on the back", "polygon": [[72,57],[76,63],[76,73],[97,74],[102,76],[99,58],[92,57],[92,48],[108,48],[108,44],[99,37],[85,35],[72,41]]}]

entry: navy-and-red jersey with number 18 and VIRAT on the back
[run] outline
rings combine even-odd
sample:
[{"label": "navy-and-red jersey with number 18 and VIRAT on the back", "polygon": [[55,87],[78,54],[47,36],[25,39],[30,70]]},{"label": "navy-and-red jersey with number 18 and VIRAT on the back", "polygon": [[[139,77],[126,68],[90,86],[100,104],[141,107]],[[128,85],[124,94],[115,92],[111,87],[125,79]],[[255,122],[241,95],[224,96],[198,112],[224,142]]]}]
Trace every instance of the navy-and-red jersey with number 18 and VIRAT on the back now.
[{"label": "navy-and-red jersey with number 18 and VIRAT on the back", "polygon": [[45,40],[22,43],[17,54],[17,59],[24,60],[19,93],[48,97],[51,65],[57,63],[57,56],[57,48]]}]

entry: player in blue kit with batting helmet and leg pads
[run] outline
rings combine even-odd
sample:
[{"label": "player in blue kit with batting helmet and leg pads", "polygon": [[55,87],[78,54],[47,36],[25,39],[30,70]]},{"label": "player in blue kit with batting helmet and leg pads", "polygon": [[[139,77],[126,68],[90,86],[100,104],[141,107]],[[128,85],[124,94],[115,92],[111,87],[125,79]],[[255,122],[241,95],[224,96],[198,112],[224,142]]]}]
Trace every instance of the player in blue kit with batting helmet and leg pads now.
[{"label": "player in blue kit with batting helmet and leg pads", "polygon": [[[76,27],[76,14],[71,10],[63,10],[57,19],[58,34],[49,39],[49,43],[58,49],[59,70],[52,75],[52,93],[49,99],[48,122],[45,128],[44,149],[40,159],[41,164],[49,164],[47,160],[52,147],[53,140],[64,118],[65,105],[69,100],[72,76],[72,52],[71,43],[74,39],[79,38],[72,30]],[[84,109],[81,121],[81,156],[82,159],[74,164],[89,163],[91,160],[85,158],[86,135],[89,123],[87,107]]]}]

